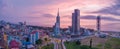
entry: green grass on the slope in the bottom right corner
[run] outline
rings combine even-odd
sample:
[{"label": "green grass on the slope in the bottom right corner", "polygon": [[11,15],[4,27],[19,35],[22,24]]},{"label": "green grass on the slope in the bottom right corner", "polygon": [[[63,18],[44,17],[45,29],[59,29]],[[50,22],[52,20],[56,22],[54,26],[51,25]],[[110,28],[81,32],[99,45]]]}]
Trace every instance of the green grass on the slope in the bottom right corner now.
[{"label": "green grass on the slope in the bottom right corner", "polygon": [[99,43],[97,46],[99,49],[120,49],[120,39],[119,38],[110,38],[104,44]]}]

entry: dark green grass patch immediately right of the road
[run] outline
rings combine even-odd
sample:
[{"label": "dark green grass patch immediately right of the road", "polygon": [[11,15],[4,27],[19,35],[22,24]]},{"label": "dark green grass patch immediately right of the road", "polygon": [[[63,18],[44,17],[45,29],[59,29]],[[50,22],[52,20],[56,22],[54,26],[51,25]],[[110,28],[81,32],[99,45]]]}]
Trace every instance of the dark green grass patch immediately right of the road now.
[{"label": "dark green grass patch immediately right of the road", "polygon": [[[76,42],[65,42],[66,49],[90,49],[87,45],[77,45]],[[96,48],[92,48],[96,49]]]}]

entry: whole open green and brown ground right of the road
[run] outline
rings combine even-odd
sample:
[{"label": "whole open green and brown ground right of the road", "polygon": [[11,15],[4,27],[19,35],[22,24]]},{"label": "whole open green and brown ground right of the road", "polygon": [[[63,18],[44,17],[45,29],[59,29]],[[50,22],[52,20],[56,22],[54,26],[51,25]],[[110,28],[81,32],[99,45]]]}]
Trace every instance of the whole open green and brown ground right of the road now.
[{"label": "whole open green and brown ground right of the road", "polygon": [[[90,48],[90,40],[92,46]],[[80,40],[78,45],[76,41],[65,42],[66,49],[120,49],[120,39],[107,36],[106,38],[89,37]]]}]

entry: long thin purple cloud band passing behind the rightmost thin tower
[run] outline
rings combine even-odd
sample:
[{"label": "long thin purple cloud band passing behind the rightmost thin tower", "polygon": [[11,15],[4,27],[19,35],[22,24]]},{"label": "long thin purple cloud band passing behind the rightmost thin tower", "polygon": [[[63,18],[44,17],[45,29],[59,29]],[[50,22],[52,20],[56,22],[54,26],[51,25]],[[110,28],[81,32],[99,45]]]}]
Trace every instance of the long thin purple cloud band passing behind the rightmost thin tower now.
[{"label": "long thin purple cloud band passing behind the rightmost thin tower", "polygon": [[[86,16],[81,16],[81,19],[89,19],[89,20],[96,20],[96,16],[94,15],[86,15]],[[107,21],[120,21],[120,19],[116,19],[113,17],[105,17],[105,16],[101,16],[102,20],[107,20]]]}]

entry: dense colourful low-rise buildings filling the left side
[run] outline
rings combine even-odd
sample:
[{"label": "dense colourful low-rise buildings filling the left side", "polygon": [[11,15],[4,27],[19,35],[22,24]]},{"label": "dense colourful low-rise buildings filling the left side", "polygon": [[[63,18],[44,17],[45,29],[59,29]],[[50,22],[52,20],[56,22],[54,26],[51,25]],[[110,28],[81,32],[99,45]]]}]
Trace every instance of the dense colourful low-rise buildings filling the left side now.
[{"label": "dense colourful low-rise buildings filling the left side", "polygon": [[0,48],[35,49],[36,41],[48,36],[45,30],[28,27],[26,22],[12,24],[0,21]]}]

